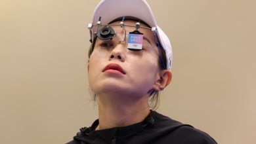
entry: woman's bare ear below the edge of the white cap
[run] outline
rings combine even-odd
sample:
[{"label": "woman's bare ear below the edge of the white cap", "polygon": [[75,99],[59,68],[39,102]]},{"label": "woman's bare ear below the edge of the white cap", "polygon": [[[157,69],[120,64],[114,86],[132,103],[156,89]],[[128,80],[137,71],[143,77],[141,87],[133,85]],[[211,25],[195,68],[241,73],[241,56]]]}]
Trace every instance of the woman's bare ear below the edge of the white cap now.
[{"label": "woman's bare ear below the edge of the white cap", "polygon": [[164,69],[160,73],[160,79],[158,79],[154,84],[154,90],[161,91],[171,82],[173,74],[171,71]]}]

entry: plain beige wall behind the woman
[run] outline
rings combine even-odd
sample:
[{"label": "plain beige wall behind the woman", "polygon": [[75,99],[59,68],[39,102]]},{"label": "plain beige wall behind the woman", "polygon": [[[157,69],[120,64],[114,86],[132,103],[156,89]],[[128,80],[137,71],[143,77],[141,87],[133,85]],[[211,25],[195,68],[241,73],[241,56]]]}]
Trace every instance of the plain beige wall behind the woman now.
[{"label": "plain beige wall behind the woman", "polygon": [[[0,1],[0,143],[66,143],[97,118],[86,67],[98,2]],[[255,143],[256,2],[148,3],[174,53],[158,111],[219,143]]]}]

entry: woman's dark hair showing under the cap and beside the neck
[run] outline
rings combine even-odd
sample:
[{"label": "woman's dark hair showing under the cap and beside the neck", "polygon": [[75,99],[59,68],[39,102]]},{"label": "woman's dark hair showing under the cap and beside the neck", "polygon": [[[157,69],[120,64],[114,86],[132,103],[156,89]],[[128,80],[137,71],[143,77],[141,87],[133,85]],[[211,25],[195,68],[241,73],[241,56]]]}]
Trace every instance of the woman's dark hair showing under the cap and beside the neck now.
[{"label": "woman's dark hair showing under the cap and beside the neck", "polygon": [[[121,18],[117,18],[116,20],[113,20],[111,23],[116,22],[121,20]],[[125,18],[125,20],[137,20],[137,18]],[[145,22],[143,22],[142,20],[140,20],[140,23],[145,24],[146,26],[148,26],[148,24],[146,24]],[[150,27],[150,26],[148,26]],[[89,48],[89,52],[88,52],[88,58],[90,59],[91,54],[93,53],[93,50],[95,48],[95,43],[96,43],[96,39],[97,37],[95,36],[93,38],[93,42],[91,43],[91,46]],[[159,41],[158,37],[157,37],[157,41]],[[163,63],[167,63],[167,58],[166,58],[166,54],[165,54],[165,50],[163,50],[163,47],[161,45],[158,45],[158,52],[159,52],[159,59],[158,59],[158,63],[160,65],[160,69],[166,69],[165,65],[163,65]],[[96,94],[94,94],[93,92],[91,92],[91,96],[93,98],[94,101],[96,101]],[[157,90],[152,90],[150,92],[150,96],[149,96],[149,104],[150,104],[150,108],[151,109],[157,109],[159,106],[159,92]]]}]

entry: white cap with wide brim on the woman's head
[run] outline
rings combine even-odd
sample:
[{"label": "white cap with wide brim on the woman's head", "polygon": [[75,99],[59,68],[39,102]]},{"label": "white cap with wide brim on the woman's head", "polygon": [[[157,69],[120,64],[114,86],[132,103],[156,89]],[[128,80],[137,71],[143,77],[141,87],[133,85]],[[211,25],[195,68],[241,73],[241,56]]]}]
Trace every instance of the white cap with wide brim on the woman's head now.
[{"label": "white cap with wide brim on the woman's head", "polygon": [[157,27],[156,34],[166,53],[167,69],[171,69],[173,61],[171,43],[167,35],[156,24],[154,14],[146,0],[102,0],[93,13],[92,23],[96,24],[100,16],[102,24],[108,24],[122,16],[132,16],[146,22],[150,27]]}]

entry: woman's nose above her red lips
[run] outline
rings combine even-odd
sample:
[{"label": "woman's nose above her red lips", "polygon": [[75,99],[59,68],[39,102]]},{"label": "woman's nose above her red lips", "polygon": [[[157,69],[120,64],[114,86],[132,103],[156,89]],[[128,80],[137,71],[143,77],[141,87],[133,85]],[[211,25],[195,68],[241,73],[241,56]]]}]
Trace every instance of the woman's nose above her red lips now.
[{"label": "woman's nose above her red lips", "polygon": [[124,45],[118,44],[115,48],[112,49],[110,53],[110,60],[119,60],[121,62],[125,62],[125,51],[126,48]]}]

